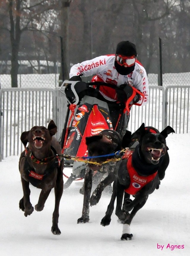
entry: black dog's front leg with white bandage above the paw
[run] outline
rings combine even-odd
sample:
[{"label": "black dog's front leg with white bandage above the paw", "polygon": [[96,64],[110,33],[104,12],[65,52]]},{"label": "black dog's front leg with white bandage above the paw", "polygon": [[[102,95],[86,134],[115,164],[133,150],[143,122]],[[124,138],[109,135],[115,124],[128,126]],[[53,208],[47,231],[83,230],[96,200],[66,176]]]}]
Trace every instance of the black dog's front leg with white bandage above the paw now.
[{"label": "black dog's front leg with white bandage above the paw", "polygon": [[122,236],[121,236],[121,240],[131,240],[133,237],[133,234],[130,234],[130,224],[132,219],[134,218],[134,216],[136,215],[136,213],[138,212],[139,209],[141,209],[146,201],[148,199],[148,195],[144,196],[143,198],[141,198],[141,202],[137,203],[136,206],[134,206],[132,212],[129,215],[129,218],[125,220],[124,225],[123,225],[123,232],[122,232]]}]

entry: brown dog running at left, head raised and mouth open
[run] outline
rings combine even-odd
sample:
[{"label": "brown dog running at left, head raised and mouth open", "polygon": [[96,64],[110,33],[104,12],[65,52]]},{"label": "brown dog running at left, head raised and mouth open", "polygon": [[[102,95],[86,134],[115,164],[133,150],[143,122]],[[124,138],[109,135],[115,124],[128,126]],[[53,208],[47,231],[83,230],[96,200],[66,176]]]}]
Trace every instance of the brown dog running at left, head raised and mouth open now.
[{"label": "brown dog running at left, head raised and mouth open", "polygon": [[[21,175],[23,198],[20,199],[19,207],[24,216],[31,215],[34,207],[30,202],[29,183],[42,189],[36,211],[42,211],[51,189],[55,190],[55,209],[53,212],[53,226],[51,231],[54,235],[60,235],[58,228],[59,203],[63,193],[63,166],[64,163],[58,158],[61,155],[61,146],[53,135],[57,132],[56,124],[50,121],[48,127],[34,126],[30,131],[23,132],[20,140],[24,144],[25,151],[20,155],[19,171]],[[29,142],[28,147],[26,147]]]}]

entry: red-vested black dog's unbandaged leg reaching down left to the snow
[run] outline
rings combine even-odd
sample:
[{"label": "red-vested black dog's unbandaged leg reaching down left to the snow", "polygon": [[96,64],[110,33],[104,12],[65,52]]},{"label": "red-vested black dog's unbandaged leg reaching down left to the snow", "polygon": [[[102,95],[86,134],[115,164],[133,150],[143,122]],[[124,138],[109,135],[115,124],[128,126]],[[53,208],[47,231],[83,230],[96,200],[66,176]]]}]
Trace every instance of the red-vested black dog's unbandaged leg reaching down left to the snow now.
[{"label": "red-vested black dog's unbandaged leg reaching down left to the snow", "polygon": [[107,211],[106,211],[106,215],[104,216],[104,218],[102,218],[101,220],[101,225],[102,226],[108,226],[110,225],[111,222],[111,216],[113,213],[113,209],[114,209],[114,202],[115,202],[115,198],[116,198],[116,187],[115,187],[115,181],[113,182],[113,192],[112,192],[112,197],[110,200],[109,205],[107,206]]}]

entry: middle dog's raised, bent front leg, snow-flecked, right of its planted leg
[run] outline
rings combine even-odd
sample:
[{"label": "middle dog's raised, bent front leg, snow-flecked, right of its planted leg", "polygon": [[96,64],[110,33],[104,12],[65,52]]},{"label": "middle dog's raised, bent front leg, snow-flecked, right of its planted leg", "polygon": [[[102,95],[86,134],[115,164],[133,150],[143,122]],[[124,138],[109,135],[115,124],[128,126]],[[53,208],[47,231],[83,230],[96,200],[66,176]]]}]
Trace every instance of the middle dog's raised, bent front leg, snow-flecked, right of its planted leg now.
[{"label": "middle dog's raised, bent front leg, snow-flecked, right of its planted leg", "polygon": [[102,192],[105,189],[106,186],[110,185],[114,181],[115,172],[110,172],[107,177],[101,181],[94,192],[91,195],[90,198],[90,206],[96,205],[96,203],[99,202]]}]

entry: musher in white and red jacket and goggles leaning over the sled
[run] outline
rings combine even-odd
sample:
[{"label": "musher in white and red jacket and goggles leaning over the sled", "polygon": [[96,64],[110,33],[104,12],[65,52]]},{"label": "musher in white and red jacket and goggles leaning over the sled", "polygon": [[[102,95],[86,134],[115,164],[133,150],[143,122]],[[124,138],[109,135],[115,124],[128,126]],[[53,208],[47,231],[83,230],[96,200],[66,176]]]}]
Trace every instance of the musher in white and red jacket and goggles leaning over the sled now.
[{"label": "musher in white and red jacket and goggles leaning over the sled", "polygon": [[[98,98],[108,104],[113,129],[123,115],[126,100],[132,94],[132,87],[143,93],[142,106],[148,103],[147,74],[143,65],[137,60],[135,44],[130,41],[118,43],[115,54],[99,56],[73,65],[69,73],[69,80],[82,81],[81,76],[91,75],[95,75],[92,82],[99,81],[113,85],[113,88],[104,85],[98,88]],[[140,95],[136,95],[131,104],[140,101],[142,101]],[[127,128],[128,123],[129,115],[125,122],[126,127],[122,125],[116,131],[121,133],[123,129]]]}]

